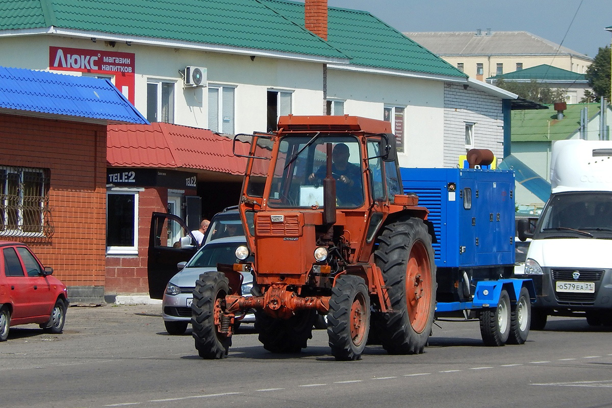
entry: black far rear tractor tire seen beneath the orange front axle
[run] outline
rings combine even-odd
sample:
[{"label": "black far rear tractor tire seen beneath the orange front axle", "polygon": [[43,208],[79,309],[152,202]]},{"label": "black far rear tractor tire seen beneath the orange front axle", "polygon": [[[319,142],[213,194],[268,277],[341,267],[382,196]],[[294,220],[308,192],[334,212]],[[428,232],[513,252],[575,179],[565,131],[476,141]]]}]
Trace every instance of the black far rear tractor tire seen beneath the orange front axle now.
[{"label": "black far rear tractor tire seen beneath the orange front axle", "polygon": [[317,313],[315,310],[298,311],[290,319],[275,319],[264,311],[255,311],[255,330],[264,349],[272,353],[299,353],[312,339]]}]

